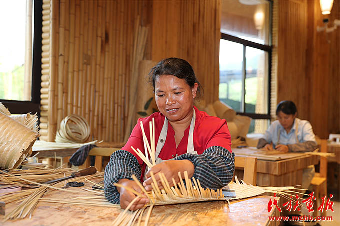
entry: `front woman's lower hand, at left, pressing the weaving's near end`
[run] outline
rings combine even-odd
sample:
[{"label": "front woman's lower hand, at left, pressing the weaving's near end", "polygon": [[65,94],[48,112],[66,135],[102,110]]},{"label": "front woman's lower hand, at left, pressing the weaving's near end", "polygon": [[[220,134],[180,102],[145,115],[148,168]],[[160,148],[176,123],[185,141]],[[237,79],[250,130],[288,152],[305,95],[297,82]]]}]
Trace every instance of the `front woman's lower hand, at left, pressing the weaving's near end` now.
[{"label": "front woman's lower hand, at left, pressing the weaving's near end", "polygon": [[[135,181],[129,180],[129,179],[120,179],[118,181],[118,184],[122,184],[126,187],[129,187],[141,194],[143,194],[143,192],[141,191],[141,188],[137,185],[137,183]],[[137,196],[134,195],[132,192],[126,190],[125,188],[120,188],[117,187],[118,192],[120,193],[120,207],[125,209],[134,198],[136,198]],[[148,198],[138,198],[130,207],[131,211],[137,210],[139,208],[144,207],[145,204],[147,204],[149,202]]]}]

